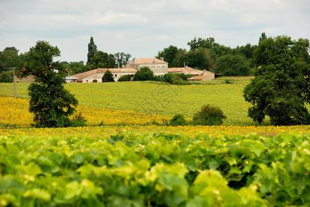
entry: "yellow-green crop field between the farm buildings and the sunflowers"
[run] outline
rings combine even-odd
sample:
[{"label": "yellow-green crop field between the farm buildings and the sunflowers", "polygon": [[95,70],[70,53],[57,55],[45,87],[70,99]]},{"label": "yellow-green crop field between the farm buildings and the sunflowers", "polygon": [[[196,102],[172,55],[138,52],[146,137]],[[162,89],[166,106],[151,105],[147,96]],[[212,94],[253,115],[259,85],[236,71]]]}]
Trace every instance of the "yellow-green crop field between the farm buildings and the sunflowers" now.
[{"label": "yellow-green crop field between the farm buildings and the sunflowers", "polygon": [[[172,117],[183,114],[192,118],[201,106],[210,103],[218,106],[228,117],[224,125],[252,126],[256,123],[247,116],[248,106],[244,101],[243,89],[249,77],[227,78],[204,81],[201,85],[174,86],[159,82],[118,83],[68,83],[69,89],[82,106],[111,110],[133,110],[150,115]],[[28,84],[17,84],[17,97],[27,98]],[[0,84],[0,93],[12,96],[12,83]],[[264,123],[268,125],[268,121]]]}]

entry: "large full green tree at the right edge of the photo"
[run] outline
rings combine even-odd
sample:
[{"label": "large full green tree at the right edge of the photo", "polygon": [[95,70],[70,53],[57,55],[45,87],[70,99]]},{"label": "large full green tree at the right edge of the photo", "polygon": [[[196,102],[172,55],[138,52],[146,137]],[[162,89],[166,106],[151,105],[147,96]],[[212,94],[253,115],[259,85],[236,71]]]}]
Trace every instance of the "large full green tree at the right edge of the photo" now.
[{"label": "large full green tree at the right edge of the photo", "polygon": [[310,124],[309,40],[262,39],[253,61],[259,68],[244,88],[246,101],[253,105],[248,116],[262,123],[267,115],[273,125]]}]

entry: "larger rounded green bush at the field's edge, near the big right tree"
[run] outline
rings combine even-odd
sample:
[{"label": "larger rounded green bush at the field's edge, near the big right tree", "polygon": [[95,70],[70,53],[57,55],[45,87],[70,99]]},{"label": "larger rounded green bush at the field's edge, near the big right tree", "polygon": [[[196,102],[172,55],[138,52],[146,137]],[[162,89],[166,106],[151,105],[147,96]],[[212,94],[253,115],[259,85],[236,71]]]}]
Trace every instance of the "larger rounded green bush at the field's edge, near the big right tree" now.
[{"label": "larger rounded green bush at the field's edge, near the big right tree", "polygon": [[206,104],[201,107],[201,111],[194,114],[192,121],[194,125],[214,126],[223,124],[226,118],[220,108]]}]

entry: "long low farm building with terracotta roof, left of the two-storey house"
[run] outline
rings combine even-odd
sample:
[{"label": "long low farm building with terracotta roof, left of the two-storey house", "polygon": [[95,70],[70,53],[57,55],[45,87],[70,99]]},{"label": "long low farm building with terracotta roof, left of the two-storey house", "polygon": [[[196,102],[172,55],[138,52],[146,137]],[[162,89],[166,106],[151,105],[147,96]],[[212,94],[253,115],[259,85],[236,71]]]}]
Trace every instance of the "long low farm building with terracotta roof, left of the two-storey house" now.
[{"label": "long low farm building with terracotta roof, left of the two-storey house", "polygon": [[118,81],[123,75],[134,75],[137,70],[134,68],[97,68],[95,70],[89,70],[82,72],[71,77],[78,78],[78,83],[101,83],[104,72],[110,70],[114,81]]}]

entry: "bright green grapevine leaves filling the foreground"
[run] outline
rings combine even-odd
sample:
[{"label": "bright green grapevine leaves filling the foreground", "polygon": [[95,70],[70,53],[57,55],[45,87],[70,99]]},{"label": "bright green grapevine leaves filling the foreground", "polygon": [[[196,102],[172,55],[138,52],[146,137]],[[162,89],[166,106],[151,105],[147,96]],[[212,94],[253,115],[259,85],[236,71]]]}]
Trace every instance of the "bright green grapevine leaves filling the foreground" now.
[{"label": "bright green grapevine leaves filling the foreground", "polygon": [[3,206],[307,206],[309,135],[0,137]]}]

